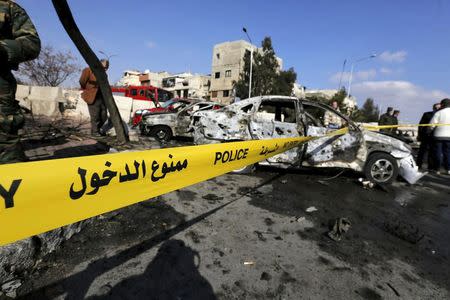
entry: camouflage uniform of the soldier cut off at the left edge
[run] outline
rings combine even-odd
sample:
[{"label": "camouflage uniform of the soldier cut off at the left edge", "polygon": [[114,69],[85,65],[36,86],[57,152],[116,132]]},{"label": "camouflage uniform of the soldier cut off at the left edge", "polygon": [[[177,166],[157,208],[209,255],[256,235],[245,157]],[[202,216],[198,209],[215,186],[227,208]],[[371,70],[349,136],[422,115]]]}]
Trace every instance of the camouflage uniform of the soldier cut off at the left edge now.
[{"label": "camouflage uniform of the soldier cut off at the left edge", "polygon": [[17,83],[11,70],[39,55],[41,42],[24,9],[0,0],[0,164],[23,161],[19,129],[24,117],[15,99]]}]

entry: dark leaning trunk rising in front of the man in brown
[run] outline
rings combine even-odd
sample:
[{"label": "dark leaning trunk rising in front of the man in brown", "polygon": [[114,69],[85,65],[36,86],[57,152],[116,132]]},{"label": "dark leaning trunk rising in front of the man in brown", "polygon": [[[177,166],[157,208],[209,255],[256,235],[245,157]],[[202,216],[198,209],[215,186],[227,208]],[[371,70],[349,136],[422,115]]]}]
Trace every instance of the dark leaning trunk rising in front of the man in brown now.
[{"label": "dark leaning trunk rising in front of the man in brown", "polygon": [[126,134],[125,128],[123,126],[122,118],[120,117],[117,105],[114,102],[105,69],[100,63],[97,55],[95,55],[94,51],[92,51],[92,49],[89,47],[86,39],[81,34],[80,29],[78,28],[75,19],[73,18],[70,7],[67,4],[67,0],[52,0],[52,3],[59,17],[59,20],[61,21],[61,24],[63,25],[67,34],[97,78],[100,92],[102,93],[103,99],[105,100],[106,108],[109,111],[111,121],[113,123],[114,129],[116,130],[117,141],[121,144],[128,142],[128,135]]}]

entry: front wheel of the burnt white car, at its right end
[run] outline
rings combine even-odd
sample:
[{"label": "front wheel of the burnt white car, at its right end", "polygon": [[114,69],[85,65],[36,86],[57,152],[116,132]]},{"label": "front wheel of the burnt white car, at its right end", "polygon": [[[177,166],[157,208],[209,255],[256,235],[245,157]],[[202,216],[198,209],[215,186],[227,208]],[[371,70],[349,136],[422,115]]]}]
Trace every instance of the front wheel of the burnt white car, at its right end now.
[{"label": "front wheel of the burnt white car, at its right end", "polygon": [[387,153],[375,153],[369,156],[364,168],[368,180],[375,183],[390,184],[398,176],[398,164]]}]

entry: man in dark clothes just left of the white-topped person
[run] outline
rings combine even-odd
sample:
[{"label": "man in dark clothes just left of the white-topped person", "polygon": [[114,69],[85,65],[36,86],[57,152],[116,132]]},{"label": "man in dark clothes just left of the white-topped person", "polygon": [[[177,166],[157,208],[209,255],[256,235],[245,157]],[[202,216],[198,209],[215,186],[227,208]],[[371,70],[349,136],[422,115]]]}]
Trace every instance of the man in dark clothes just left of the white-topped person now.
[{"label": "man in dark clothes just left of the white-topped person", "polygon": [[[431,119],[434,116],[434,113],[439,110],[441,107],[440,103],[435,103],[433,105],[433,110],[428,111],[422,115],[419,124],[430,124]],[[433,143],[433,130],[429,126],[420,126],[419,132],[417,135],[417,140],[420,142],[419,153],[417,154],[417,166],[422,168],[423,161],[425,158],[425,154],[428,153],[428,170],[434,169],[434,160],[432,150]]]}]

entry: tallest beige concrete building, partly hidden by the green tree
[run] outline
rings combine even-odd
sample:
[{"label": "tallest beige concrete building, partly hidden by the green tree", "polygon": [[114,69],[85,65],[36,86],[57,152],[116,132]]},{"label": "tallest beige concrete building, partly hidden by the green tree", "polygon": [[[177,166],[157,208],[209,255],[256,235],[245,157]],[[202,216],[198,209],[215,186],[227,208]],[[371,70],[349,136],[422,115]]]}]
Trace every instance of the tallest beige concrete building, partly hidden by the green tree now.
[{"label": "tallest beige concrete building, partly hidden by the green tree", "polygon": [[[261,51],[244,40],[224,42],[214,46],[211,68],[211,100],[221,103],[230,103],[234,97],[233,85],[239,80],[244,69],[244,56],[253,49]],[[278,58],[280,70],[283,68],[283,60]]]}]

